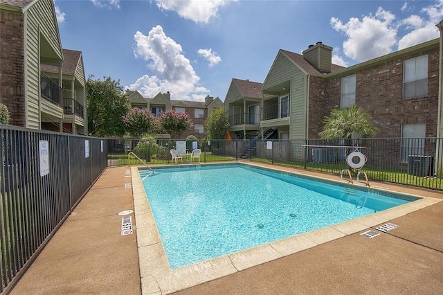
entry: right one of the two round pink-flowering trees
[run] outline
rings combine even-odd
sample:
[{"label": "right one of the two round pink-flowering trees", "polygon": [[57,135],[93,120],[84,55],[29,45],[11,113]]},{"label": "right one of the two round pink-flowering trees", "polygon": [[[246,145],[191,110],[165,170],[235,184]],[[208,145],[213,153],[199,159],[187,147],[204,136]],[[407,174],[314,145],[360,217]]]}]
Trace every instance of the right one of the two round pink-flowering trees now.
[{"label": "right one of the two round pink-flowering trees", "polygon": [[161,129],[171,134],[171,138],[179,138],[183,132],[186,132],[186,130],[194,125],[187,114],[182,112],[176,113],[172,109],[162,111],[160,117]]}]

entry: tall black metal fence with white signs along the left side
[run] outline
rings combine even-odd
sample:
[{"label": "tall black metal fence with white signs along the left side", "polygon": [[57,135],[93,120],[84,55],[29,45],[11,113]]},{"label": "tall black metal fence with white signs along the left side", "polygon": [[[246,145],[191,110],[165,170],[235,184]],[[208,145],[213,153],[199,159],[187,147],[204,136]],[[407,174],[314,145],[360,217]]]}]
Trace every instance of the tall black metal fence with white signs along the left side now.
[{"label": "tall black metal fence with white signs along the left side", "polygon": [[0,125],[0,293],[107,167],[106,140]]}]

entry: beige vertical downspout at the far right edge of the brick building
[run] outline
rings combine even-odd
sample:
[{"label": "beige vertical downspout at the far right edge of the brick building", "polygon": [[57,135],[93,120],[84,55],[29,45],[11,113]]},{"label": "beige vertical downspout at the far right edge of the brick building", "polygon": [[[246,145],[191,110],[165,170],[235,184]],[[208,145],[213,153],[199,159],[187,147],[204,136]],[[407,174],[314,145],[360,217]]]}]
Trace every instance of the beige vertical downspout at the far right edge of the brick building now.
[{"label": "beige vertical downspout at the far right edge of the brick building", "polygon": [[437,107],[437,145],[435,151],[435,173],[438,177],[442,177],[442,156],[443,156],[443,143],[442,143],[442,45],[443,45],[443,20],[440,21],[437,26],[440,31],[440,52],[438,56],[438,107]]}]

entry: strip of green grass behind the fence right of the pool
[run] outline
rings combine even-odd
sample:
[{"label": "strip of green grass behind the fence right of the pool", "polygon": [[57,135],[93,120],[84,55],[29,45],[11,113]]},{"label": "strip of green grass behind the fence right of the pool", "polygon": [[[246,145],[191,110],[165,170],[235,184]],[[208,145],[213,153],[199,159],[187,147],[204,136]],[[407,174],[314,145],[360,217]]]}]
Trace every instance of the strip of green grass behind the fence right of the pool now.
[{"label": "strip of green grass behind the fence right of the pool", "polygon": [[[253,161],[260,163],[272,163],[268,159],[254,158]],[[273,161],[274,165],[291,166],[294,168],[305,169],[304,162],[290,162],[290,161]],[[340,175],[343,169],[347,169],[345,164],[334,163],[306,163],[307,170],[328,172],[336,175]],[[368,179],[374,181],[386,181],[395,184],[404,184],[408,186],[419,186],[423,188],[443,189],[443,179],[433,177],[419,177],[416,175],[409,175],[408,172],[398,170],[380,170],[365,166],[363,169],[368,175]],[[356,177],[356,173],[352,173],[353,177]]]}]

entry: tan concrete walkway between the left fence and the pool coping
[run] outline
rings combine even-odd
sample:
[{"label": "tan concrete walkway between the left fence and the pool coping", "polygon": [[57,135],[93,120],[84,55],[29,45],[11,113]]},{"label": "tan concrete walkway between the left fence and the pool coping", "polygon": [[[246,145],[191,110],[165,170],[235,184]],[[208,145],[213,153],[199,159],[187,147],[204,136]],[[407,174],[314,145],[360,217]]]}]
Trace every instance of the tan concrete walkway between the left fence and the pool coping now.
[{"label": "tan concrete walkway between the left fence and the pool coping", "polygon": [[136,234],[121,235],[118,215],[134,210],[126,171],[105,170],[12,294],[141,294]]}]

